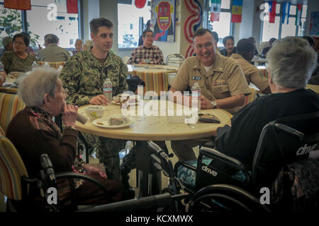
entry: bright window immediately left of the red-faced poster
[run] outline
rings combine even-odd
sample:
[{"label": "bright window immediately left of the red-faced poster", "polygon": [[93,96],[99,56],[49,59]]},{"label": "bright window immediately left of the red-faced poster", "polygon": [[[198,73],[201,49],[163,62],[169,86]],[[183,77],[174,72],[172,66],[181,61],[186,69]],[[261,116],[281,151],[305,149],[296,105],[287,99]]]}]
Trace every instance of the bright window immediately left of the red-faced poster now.
[{"label": "bright window immediately left of the red-faced poster", "polygon": [[[145,29],[150,20],[150,1],[144,8],[136,8],[132,4],[118,4],[118,48],[136,48],[140,38],[140,31]],[[140,18],[143,28],[140,29]]]}]

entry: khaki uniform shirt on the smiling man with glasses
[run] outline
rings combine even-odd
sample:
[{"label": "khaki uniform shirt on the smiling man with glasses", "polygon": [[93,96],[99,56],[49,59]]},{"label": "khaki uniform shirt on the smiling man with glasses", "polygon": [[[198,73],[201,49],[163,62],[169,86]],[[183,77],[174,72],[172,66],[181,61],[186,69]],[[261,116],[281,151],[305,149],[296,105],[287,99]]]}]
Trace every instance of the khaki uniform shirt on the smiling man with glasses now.
[{"label": "khaki uniform shirt on the smiling man with glasses", "polygon": [[[215,63],[208,73],[198,57],[188,57],[171,85],[176,90],[184,91],[194,83],[198,83],[201,94],[208,100],[250,94],[250,88],[239,64],[230,57],[223,57],[217,53]],[[234,113],[238,109],[240,107],[227,110]]]}]

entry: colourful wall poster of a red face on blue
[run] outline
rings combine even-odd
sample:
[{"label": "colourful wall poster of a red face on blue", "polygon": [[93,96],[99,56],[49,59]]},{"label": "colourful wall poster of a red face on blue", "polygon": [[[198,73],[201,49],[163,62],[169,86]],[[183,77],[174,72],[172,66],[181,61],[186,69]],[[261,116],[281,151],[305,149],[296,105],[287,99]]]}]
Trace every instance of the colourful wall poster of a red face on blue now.
[{"label": "colourful wall poster of a red face on blue", "polygon": [[153,0],[152,23],[155,41],[175,41],[175,4],[175,0]]}]

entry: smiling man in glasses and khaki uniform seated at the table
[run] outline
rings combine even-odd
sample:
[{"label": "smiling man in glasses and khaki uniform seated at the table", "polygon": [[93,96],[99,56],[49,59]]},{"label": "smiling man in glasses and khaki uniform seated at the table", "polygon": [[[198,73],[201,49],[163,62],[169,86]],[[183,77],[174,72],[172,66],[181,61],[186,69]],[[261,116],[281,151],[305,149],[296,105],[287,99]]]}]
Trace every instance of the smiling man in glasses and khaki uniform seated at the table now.
[{"label": "smiling man in glasses and khaki uniform seated at the table", "polygon": [[[183,92],[198,83],[201,86],[201,109],[223,108],[234,114],[244,105],[250,88],[240,65],[229,57],[216,54],[216,40],[211,30],[200,28],[194,33],[196,57],[188,57],[179,69],[170,91]],[[180,94],[181,95],[181,94]],[[174,97],[178,100],[176,93]],[[191,106],[191,98],[184,98]],[[180,161],[196,159],[192,148],[203,141],[172,141],[172,149]]]}]

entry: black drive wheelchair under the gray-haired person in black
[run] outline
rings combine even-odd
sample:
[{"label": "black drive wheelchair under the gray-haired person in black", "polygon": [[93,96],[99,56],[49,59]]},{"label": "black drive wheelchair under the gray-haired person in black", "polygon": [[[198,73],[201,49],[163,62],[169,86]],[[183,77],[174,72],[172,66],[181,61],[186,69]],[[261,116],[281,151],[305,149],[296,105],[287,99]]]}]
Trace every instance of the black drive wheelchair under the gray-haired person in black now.
[{"label": "black drive wheelchair under the gray-haired person in black", "polygon": [[[296,212],[298,205],[291,203],[293,197],[289,196],[288,200],[285,199],[286,194],[280,197],[279,191],[272,187],[273,182],[278,179],[279,172],[291,164],[303,165],[304,169],[307,165],[313,165],[317,169],[310,183],[313,189],[305,192],[313,195],[303,197],[299,208],[303,211],[319,211],[319,164],[312,160],[318,159],[314,154],[318,155],[318,142],[319,112],[284,117],[269,122],[262,129],[251,167],[203,145],[197,162],[177,162],[174,172],[184,182],[184,190],[193,194],[190,202],[194,210],[216,211],[218,206],[218,211],[223,212],[237,211],[237,207],[252,210],[252,206],[256,208],[254,210],[277,211],[286,208],[287,211]],[[315,148],[316,152],[313,151]],[[286,193],[289,193],[292,182],[288,184],[283,190]],[[262,191],[265,188],[272,191],[272,202],[261,206]],[[308,206],[303,205],[307,203],[306,200]]]}]

